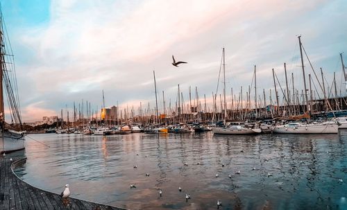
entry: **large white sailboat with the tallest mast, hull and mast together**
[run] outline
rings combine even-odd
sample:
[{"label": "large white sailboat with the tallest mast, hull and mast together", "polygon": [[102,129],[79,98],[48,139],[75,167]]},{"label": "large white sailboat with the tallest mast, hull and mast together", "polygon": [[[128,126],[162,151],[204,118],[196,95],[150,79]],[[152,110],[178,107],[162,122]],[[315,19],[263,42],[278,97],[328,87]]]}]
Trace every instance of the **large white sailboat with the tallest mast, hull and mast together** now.
[{"label": "large white sailboat with the tallest mast, hull and mast together", "polygon": [[[298,41],[300,45],[300,53],[301,53],[301,67],[303,68],[303,82],[304,82],[304,88],[305,88],[305,101],[306,101],[306,112],[307,119],[310,119],[309,114],[309,103],[307,99],[307,88],[306,88],[306,82],[305,82],[305,67],[303,63],[303,49],[302,49],[302,43],[301,43],[301,36],[298,36]],[[326,98],[325,98],[326,100]],[[303,115],[305,115],[303,114]],[[338,132],[339,125],[335,121],[325,121],[323,123],[301,123],[301,122],[294,122],[294,123],[287,123],[285,125],[275,125],[273,126],[273,132],[275,133],[281,133],[281,134],[332,134]]]}]

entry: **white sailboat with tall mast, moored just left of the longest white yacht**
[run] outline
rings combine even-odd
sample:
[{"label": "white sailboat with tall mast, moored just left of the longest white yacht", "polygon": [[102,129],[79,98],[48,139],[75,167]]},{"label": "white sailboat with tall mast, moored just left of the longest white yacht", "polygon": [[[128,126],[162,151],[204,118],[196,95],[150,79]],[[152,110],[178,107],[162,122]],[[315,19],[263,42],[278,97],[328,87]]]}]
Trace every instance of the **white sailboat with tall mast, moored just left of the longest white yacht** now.
[{"label": "white sailboat with tall mast, moored just left of the longest white yacht", "polygon": [[223,127],[214,127],[212,131],[214,134],[257,134],[262,132],[260,128],[248,127],[244,123],[237,123],[226,125],[226,63],[225,53],[223,49],[223,95],[224,95],[224,114],[223,114]]}]

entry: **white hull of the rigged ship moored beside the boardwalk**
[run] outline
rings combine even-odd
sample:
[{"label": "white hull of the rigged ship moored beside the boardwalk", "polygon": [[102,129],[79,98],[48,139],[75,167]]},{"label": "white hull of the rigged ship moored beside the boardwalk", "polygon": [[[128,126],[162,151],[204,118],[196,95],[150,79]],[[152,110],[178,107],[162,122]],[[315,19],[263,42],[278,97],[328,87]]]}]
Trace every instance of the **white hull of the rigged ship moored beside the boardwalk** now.
[{"label": "white hull of the rigged ship moored beside the boardwalk", "polygon": [[[2,134],[1,134],[2,136]],[[24,150],[25,137],[22,132],[7,131],[0,137],[0,152]]]}]

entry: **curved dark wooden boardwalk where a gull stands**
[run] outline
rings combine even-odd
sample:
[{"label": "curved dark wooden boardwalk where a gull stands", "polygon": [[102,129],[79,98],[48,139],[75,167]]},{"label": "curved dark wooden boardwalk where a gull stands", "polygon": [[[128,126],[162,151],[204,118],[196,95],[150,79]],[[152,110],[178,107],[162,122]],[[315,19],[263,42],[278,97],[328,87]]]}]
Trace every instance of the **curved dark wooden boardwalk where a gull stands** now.
[{"label": "curved dark wooden boardwalk where a gull stands", "polygon": [[12,168],[25,161],[0,157],[0,209],[121,209],[76,198],[69,198],[65,205],[58,194],[37,189],[12,172]]}]

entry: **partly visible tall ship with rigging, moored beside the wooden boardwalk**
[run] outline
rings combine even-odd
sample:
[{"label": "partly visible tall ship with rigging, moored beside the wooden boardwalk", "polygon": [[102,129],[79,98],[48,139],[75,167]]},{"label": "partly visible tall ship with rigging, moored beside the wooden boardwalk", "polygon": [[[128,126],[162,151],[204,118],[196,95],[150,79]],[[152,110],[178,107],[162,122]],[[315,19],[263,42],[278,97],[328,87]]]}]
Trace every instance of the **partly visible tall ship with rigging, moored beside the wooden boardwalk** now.
[{"label": "partly visible tall ship with rigging, moored beside the wooden boardwalk", "polygon": [[[19,96],[16,71],[10,40],[3,26],[3,14],[0,11],[0,153],[24,150],[25,132],[22,130],[22,116],[20,114]],[[8,47],[9,46],[9,47]],[[4,91],[6,89],[6,91]],[[12,123],[5,121],[5,107],[3,95],[6,92]]]}]

